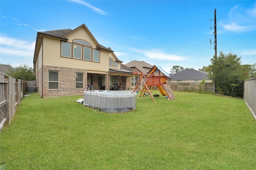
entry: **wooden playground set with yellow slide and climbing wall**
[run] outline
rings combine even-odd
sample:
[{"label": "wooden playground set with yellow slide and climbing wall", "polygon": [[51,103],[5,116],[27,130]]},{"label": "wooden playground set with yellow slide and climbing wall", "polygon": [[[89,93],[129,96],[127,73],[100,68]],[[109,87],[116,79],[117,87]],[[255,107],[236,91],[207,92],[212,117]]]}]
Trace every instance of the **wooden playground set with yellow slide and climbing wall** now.
[{"label": "wooden playground set with yellow slide and climbing wall", "polygon": [[[155,70],[157,69],[160,70],[160,72],[162,72],[164,75],[155,75]],[[137,83],[137,86],[134,89],[134,92],[140,92],[139,97],[147,96],[149,94],[154,103],[156,103],[152,96],[152,93],[150,92],[152,86],[156,86],[159,89],[160,93],[163,96],[166,96],[168,100],[175,99],[172,89],[170,88],[169,84],[166,81],[168,78],[170,78],[170,75],[167,72],[165,72],[161,67],[154,65],[148,73],[133,72],[133,74],[137,74],[138,77],[140,78]],[[143,85],[143,88],[141,90],[140,82],[142,82]]]}]

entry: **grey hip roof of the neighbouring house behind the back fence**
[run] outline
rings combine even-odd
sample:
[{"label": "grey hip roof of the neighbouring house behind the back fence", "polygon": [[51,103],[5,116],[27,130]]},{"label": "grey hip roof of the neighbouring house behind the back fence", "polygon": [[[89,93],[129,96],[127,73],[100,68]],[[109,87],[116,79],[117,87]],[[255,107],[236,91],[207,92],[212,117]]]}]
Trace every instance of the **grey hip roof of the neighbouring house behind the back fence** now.
[{"label": "grey hip roof of the neighbouring house behind the back fence", "polygon": [[185,69],[183,71],[171,74],[172,80],[208,80],[207,72],[194,69]]}]

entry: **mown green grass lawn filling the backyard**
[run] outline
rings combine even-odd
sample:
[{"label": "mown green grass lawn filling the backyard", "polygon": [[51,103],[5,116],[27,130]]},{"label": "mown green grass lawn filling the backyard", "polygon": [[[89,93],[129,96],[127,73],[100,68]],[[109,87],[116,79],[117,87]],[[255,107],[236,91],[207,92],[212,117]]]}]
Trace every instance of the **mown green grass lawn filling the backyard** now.
[{"label": "mown green grass lawn filling the backyard", "polygon": [[256,121],[244,100],[174,92],[103,113],[82,96],[24,97],[0,133],[7,170],[256,169]]}]

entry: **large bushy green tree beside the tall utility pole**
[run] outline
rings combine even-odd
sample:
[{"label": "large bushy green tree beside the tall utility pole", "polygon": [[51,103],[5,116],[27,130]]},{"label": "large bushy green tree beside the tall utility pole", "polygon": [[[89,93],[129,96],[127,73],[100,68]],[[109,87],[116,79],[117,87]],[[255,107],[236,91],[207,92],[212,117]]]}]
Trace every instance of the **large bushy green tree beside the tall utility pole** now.
[{"label": "large bushy green tree beside the tall utility pole", "polygon": [[241,57],[232,54],[224,54],[219,52],[219,57],[216,55],[210,60],[208,76],[217,89],[223,95],[227,96],[243,96],[243,80],[244,72],[242,71]]}]

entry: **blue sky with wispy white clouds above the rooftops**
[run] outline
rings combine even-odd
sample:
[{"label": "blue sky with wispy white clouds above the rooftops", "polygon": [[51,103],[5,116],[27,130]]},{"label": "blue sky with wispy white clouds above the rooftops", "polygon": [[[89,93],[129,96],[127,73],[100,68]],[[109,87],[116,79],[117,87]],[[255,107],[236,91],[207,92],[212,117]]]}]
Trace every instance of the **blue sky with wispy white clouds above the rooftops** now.
[{"label": "blue sky with wispy white clouds above the rooftops", "polygon": [[119,60],[198,70],[217,51],[242,64],[256,63],[256,1],[0,0],[0,63],[33,67],[38,31],[75,29],[83,23]]}]

